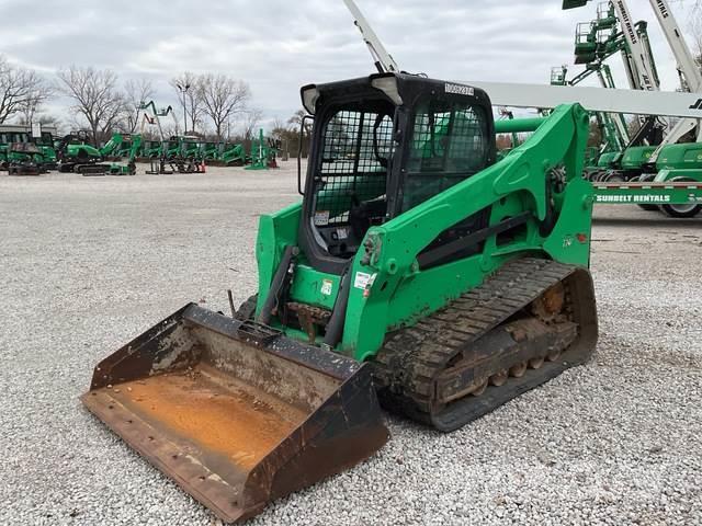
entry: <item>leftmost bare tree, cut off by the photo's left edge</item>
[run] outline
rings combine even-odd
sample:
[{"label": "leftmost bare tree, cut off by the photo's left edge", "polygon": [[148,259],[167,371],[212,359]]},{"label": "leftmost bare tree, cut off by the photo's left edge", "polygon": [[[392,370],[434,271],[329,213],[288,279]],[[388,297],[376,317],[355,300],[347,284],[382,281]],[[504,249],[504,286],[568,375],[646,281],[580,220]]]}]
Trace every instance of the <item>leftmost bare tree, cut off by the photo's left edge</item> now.
[{"label": "leftmost bare tree, cut off by the photo's left edge", "polygon": [[50,95],[50,85],[36,71],[13,66],[0,55],[0,124],[18,114],[31,122]]}]

